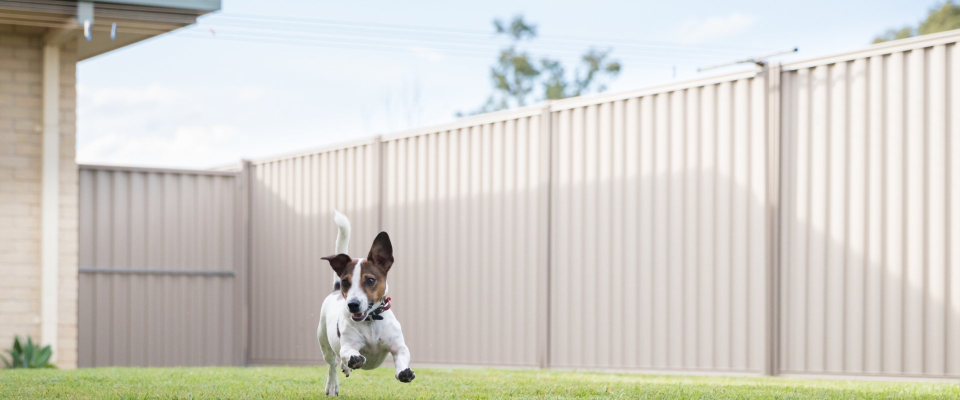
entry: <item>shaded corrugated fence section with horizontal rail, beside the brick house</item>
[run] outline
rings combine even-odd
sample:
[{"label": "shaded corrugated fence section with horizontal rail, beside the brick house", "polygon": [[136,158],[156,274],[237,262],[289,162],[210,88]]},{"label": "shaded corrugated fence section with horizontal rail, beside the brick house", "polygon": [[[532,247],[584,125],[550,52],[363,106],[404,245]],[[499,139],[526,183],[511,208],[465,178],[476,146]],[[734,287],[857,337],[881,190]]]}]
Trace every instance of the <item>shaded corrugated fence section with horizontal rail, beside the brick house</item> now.
[{"label": "shaded corrugated fence section with horizontal rail, beside the brick house", "polygon": [[80,366],[243,365],[238,175],[82,165],[80,187]]}]

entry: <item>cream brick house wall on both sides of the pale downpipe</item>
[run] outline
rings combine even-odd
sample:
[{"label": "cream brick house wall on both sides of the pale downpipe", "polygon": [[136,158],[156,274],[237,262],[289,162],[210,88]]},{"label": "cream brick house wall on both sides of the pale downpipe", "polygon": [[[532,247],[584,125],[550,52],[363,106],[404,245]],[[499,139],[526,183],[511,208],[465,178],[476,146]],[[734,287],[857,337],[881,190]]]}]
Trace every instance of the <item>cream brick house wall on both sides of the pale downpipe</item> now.
[{"label": "cream brick house wall on both sides of the pale downpipe", "polygon": [[[0,349],[40,334],[43,29],[0,25]],[[60,54],[60,367],[77,365],[76,49]]]}]

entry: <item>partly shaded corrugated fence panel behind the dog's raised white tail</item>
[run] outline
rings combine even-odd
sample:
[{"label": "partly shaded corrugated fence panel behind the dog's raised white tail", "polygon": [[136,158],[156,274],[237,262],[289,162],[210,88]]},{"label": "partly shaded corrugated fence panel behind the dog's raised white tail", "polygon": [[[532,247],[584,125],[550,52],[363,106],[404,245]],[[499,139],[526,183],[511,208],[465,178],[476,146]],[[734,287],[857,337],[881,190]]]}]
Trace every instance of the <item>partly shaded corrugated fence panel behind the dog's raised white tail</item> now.
[{"label": "partly shaded corrugated fence panel behind the dog's raised white tail", "polygon": [[334,274],[333,209],[346,213],[349,254],[365,257],[377,231],[374,142],[255,162],[251,177],[250,361],[322,364],[317,324]]}]

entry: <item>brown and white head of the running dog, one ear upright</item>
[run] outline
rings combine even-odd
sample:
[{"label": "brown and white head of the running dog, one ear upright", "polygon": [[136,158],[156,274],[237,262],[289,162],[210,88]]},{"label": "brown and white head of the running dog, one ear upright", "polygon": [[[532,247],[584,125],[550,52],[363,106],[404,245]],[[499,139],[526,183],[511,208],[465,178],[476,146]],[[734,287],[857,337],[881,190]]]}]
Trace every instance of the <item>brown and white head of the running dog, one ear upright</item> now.
[{"label": "brown and white head of the running dog, one ear upright", "polygon": [[362,321],[387,294],[387,272],[394,265],[394,247],[387,232],[373,239],[366,259],[347,254],[324,257],[340,277],[340,294],[347,299],[347,312],[354,321]]}]

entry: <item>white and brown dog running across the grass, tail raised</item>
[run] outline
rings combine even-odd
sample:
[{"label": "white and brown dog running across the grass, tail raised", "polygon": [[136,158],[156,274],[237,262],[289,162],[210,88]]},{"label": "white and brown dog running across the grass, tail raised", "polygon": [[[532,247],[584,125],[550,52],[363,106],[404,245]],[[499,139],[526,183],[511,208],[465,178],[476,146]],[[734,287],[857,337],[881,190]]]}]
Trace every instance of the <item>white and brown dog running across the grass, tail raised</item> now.
[{"label": "white and brown dog running across the grass, tail raised", "polygon": [[373,369],[383,363],[389,352],[394,356],[395,377],[400,382],[414,380],[410,369],[410,350],[403,341],[400,322],[390,311],[387,297],[387,272],[394,265],[394,247],[387,232],[373,240],[367,258],[351,258],[347,253],[350,222],[333,211],[339,230],[336,255],[324,257],[337,274],[333,293],[326,296],[320,310],[317,339],[330,366],[326,374],[326,394],[340,393],[337,366],[350,376],[352,369]]}]

